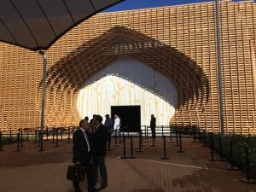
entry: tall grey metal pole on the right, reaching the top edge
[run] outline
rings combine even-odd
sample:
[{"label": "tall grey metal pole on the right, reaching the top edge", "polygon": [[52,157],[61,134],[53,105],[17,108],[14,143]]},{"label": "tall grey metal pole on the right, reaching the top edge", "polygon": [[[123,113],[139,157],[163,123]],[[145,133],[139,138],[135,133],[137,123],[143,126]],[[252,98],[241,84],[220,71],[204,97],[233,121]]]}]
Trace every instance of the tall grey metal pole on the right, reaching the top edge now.
[{"label": "tall grey metal pole on the right, reaching the top edge", "polygon": [[219,29],[219,9],[218,0],[215,0],[216,11],[216,33],[217,33],[217,58],[218,58],[218,100],[220,111],[220,135],[221,140],[224,141],[224,108],[223,108],[223,94],[222,94],[222,72],[221,72],[221,49],[220,49],[220,29]]}]

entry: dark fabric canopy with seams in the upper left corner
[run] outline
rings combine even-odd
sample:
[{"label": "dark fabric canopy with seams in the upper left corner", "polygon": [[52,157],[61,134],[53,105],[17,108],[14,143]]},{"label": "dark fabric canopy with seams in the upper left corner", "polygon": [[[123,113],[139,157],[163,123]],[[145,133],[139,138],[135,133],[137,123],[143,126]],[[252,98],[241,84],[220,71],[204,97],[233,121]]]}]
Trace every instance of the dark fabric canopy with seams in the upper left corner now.
[{"label": "dark fabric canopy with seams in the upper left corner", "polygon": [[48,49],[80,22],[124,0],[0,0],[0,41]]}]

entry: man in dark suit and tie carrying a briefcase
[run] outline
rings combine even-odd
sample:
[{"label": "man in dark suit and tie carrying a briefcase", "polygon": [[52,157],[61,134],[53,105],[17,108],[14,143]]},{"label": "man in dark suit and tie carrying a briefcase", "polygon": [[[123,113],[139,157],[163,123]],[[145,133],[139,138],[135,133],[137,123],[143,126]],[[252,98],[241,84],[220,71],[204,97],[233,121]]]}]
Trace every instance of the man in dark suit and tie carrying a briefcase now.
[{"label": "man in dark suit and tie carrying a briefcase", "polygon": [[[91,145],[90,135],[88,134],[90,127],[86,120],[82,119],[79,123],[79,129],[73,134],[73,163],[78,166],[87,167],[87,183],[88,191],[99,191],[93,185],[93,172],[91,165]],[[78,181],[73,181],[75,192],[82,192]]]}]

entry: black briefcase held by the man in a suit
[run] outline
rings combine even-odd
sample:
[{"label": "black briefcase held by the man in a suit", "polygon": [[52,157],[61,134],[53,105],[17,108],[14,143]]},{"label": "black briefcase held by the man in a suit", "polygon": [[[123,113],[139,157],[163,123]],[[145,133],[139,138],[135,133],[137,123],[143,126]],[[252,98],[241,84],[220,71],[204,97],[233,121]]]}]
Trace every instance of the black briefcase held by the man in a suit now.
[{"label": "black briefcase held by the man in a suit", "polygon": [[68,166],[67,179],[72,181],[84,181],[86,167],[84,166]]}]

